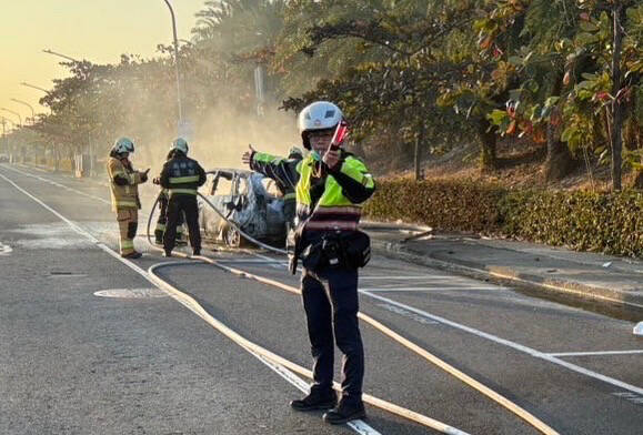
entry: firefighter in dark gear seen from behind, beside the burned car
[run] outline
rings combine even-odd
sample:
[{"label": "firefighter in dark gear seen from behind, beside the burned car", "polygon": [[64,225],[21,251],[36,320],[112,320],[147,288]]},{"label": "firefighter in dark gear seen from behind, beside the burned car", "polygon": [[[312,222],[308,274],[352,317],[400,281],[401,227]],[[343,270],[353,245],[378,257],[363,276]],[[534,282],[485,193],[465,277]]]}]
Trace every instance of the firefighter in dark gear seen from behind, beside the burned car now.
[{"label": "firefighter in dark gear seen from behind, beside the burned car", "polygon": [[172,142],[172,156],[163,165],[160,183],[168,189],[168,221],[163,234],[164,256],[172,256],[177,236],[177,224],[181,213],[185,214],[190,245],[193,255],[201,255],[201,233],[199,230],[199,206],[197,190],[205,183],[205,171],[195,160],[188,158],[188,142],[178,138]]}]

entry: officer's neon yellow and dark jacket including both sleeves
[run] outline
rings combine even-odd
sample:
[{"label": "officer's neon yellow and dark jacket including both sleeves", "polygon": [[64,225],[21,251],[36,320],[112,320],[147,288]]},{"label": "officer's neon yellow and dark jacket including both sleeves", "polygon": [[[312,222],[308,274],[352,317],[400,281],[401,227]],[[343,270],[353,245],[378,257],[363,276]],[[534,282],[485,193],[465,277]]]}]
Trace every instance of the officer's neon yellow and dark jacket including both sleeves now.
[{"label": "officer's neon yellow and dark jacket including both sleeves", "polygon": [[298,231],[356,230],[361,204],[375,190],[373,176],[360,159],[343,150],[334,169],[320,174],[320,164],[312,155],[295,161],[255,152],[250,168],[295,183]]}]

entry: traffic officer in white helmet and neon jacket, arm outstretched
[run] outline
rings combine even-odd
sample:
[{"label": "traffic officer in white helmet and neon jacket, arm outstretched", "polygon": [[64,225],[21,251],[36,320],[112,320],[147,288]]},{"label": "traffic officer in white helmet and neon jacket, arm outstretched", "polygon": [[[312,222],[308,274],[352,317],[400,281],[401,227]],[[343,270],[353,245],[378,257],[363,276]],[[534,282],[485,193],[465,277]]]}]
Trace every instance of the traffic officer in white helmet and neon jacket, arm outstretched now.
[{"label": "traffic officer in white helmet and neon jacket, arm outstretched", "polygon": [[[299,114],[305,159],[280,159],[252,149],[242,161],[267,176],[295,181],[297,231],[291,272],[302,261],[301,293],[311,342],[310,394],[291,402],[297,411],[330,409],[323,418],[342,424],[365,416],[364,352],[358,323],[358,267],[370,257],[368,235],[358,230],[361,204],[375,190],[364,163],[330,146],[344,125],[335,104],[314,102]],[[341,143],[340,143],[341,144]],[[333,392],[334,341],[343,353],[341,397]]]}]

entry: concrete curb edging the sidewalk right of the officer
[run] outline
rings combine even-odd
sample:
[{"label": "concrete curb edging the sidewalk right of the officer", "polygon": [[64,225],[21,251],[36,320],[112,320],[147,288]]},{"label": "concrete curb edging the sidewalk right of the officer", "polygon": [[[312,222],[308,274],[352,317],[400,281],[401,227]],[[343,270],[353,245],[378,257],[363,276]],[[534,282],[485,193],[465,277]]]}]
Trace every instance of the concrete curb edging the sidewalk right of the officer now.
[{"label": "concrete curb edging the sidewalk right of the officer", "polygon": [[421,255],[396,242],[385,242],[371,239],[371,243],[373,250],[384,256],[453,272],[475,280],[493,281],[513,285],[519,284],[521,287],[532,291],[572,295],[603,304],[617,304],[629,308],[643,310],[643,295],[631,294],[630,292],[614,291],[613,289],[596,287],[573,281],[519,273],[511,267],[488,267],[484,264],[473,265],[471,263],[464,264],[464,262],[448,262]]}]

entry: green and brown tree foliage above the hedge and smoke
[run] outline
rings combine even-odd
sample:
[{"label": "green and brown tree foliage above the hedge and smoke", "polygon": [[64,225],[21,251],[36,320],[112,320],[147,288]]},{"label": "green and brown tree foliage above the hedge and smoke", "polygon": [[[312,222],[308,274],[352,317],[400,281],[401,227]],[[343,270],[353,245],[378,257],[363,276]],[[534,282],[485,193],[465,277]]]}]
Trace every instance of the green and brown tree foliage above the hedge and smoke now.
[{"label": "green and brown tree foliage above the hedge and smoke", "polygon": [[[560,178],[571,156],[616,162],[619,120],[624,164],[642,168],[640,1],[210,0],[197,18],[179,64],[184,112],[200,124],[224,122],[222,108],[257,113],[261,68],[265,104],[295,112],[335,101],[356,149],[400,168],[476,140],[493,170],[496,142],[515,135],[546,148],[547,173]],[[50,143],[71,153],[121,131],[175,131],[171,47],[152,59],[63,64],[70,77],[42,99],[51,114],[36,127]]]}]

